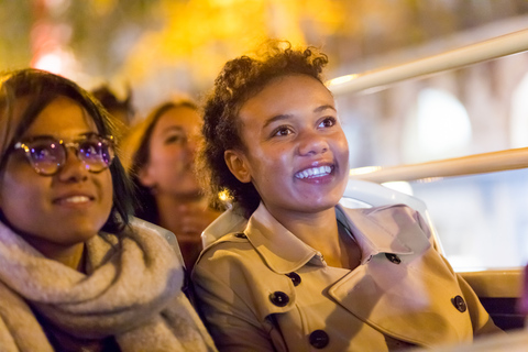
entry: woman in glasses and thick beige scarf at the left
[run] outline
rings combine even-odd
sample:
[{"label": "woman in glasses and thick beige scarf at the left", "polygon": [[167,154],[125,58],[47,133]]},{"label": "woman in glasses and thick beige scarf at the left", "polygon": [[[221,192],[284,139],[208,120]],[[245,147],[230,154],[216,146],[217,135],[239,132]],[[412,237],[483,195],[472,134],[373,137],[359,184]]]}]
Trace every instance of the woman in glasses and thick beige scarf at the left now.
[{"label": "woman in glasses and thick beige scarf at the left", "polygon": [[110,116],[34,69],[0,87],[0,350],[213,351],[162,230],[128,216]]}]

